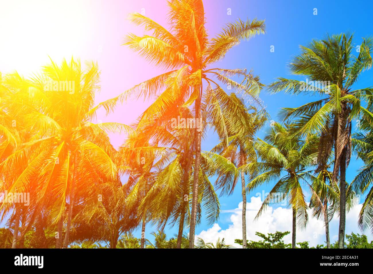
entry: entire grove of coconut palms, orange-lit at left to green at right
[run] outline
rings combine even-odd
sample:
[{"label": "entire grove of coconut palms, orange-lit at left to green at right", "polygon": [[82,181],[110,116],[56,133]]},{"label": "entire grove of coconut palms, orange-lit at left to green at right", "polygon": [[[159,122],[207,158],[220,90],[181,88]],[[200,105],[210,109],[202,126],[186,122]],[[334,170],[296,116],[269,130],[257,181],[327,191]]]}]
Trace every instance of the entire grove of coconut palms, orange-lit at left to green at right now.
[{"label": "entire grove of coconut palms, orange-lit at left to green at right", "polygon": [[[293,248],[309,209],[325,223],[327,248],[329,222],[340,215],[343,248],[345,213],[366,192],[358,224],[373,231],[373,89],[355,89],[360,73],[372,66],[372,38],[363,39],[356,55],[350,34],[301,46],[290,69],[307,80],[278,78],[269,90],[318,98],[283,108],[281,122],[271,123],[259,138],[269,118],[259,98],[264,85],[252,71],[215,63],[241,41],[264,34],[264,21],[239,19],[209,38],[201,0],[169,1],[168,19],[165,28],[140,13],[130,16],[145,34],[128,34],[124,45],[162,73],[99,104],[96,63],[83,69],[79,60],[51,61],[27,79],[0,73],[0,191],[30,196],[27,205],[1,203],[3,246],[231,248],[224,238],[195,240],[195,227],[219,220],[218,192],[231,195],[239,181],[237,243],[243,248],[249,242],[246,195],[264,184],[272,190],[256,219],[270,204],[285,203],[292,210]],[[94,123],[98,109],[115,111],[129,97],[151,100],[131,126]],[[188,122],[180,123],[183,119]],[[355,134],[353,119],[361,119]],[[210,127],[219,142],[203,151]],[[119,149],[109,138],[117,132],[126,133]],[[349,184],[345,176],[353,152],[364,166]],[[147,224],[156,227],[154,241],[145,237]],[[178,233],[167,239],[165,227],[175,225]],[[269,233],[278,238],[274,241],[257,233],[281,247],[289,246],[281,240],[286,234]],[[249,246],[273,248],[254,243]]]}]

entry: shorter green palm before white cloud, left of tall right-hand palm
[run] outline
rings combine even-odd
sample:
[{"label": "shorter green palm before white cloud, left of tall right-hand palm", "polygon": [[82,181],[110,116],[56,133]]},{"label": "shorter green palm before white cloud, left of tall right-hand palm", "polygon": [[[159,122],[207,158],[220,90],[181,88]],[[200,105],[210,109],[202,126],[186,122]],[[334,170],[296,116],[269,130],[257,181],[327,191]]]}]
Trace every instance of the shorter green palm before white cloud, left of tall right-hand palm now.
[{"label": "shorter green palm before white cloud, left of tall right-hand palm", "polygon": [[[275,182],[275,186],[264,199],[258,211],[257,219],[272,202],[288,202],[292,208],[292,248],[296,248],[296,229],[305,226],[308,221],[307,203],[304,199],[301,183],[311,190],[313,196],[317,197],[308,180],[315,179],[307,167],[312,165],[316,157],[314,142],[310,138],[308,142],[294,135],[294,125],[280,125],[274,123],[267,129],[267,135],[262,140],[257,139],[254,147],[261,162],[248,163],[239,167],[239,170],[249,171],[252,180],[247,188],[253,190],[263,183]],[[322,204],[317,199],[318,205]]]}]

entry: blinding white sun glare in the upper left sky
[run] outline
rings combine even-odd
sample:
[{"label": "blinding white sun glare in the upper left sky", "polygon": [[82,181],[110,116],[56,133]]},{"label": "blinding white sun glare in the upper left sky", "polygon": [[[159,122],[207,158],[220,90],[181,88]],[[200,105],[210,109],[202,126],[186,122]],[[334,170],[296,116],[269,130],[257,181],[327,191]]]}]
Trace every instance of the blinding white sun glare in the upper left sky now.
[{"label": "blinding white sun glare in the upper left sky", "polygon": [[94,29],[88,1],[15,0],[0,4],[0,72],[25,76],[64,57],[84,56]]}]

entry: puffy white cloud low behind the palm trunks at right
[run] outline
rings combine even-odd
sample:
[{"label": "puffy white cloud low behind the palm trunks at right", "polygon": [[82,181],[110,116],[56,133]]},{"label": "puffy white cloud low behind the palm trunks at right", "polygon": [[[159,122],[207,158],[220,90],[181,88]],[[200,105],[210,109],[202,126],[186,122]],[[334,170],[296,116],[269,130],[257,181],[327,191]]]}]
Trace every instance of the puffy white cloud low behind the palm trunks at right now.
[{"label": "puffy white cloud low behind the palm trunks at right", "polygon": [[[258,209],[261,206],[260,197],[251,197],[250,202],[247,203],[246,211],[246,229],[248,240],[260,240],[261,238],[255,235],[255,232],[261,232],[264,234],[274,233],[276,231],[290,231],[292,230],[292,210],[284,207],[268,207],[267,210],[261,215],[257,221],[253,221]],[[346,234],[351,232],[360,233],[357,226],[357,220],[361,204],[356,205],[346,216]],[[222,230],[219,224],[215,223],[212,227],[207,230],[203,230],[200,234],[196,235],[201,237],[205,242],[215,243],[217,238],[225,238],[227,244],[235,247],[240,247],[234,243],[235,239],[242,239],[242,202],[238,204],[238,208],[234,210],[223,211],[225,213],[233,213],[230,217],[231,224],[228,229]],[[307,227],[303,230],[297,229],[297,242],[310,242],[310,246],[316,246],[317,244],[325,244],[325,227],[322,220],[317,220],[311,217],[309,212],[309,220]],[[338,226],[339,217],[334,216],[329,224],[330,230],[330,242],[334,243],[338,240]],[[368,240],[372,240],[372,234],[369,231],[365,232],[368,236]],[[291,233],[284,237],[285,243],[291,243]]]}]

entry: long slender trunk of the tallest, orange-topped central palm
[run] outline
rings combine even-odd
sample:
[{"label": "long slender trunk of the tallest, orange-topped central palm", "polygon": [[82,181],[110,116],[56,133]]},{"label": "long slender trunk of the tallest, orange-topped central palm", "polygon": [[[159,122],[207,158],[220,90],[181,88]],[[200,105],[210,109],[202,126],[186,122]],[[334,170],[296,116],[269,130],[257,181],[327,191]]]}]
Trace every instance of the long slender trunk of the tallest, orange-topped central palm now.
[{"label": "long slender trunk of the tallest, orange-topped central palm", "polygon": [[[202,89],[202,85],[201,85]],[[201,96],[195,100],[195,117],[201,123]],[[197,121],[196,121],[197,122]],[[193,177],[193,198],[192,198],[192,212],[189,229],[189,248],[194,248],[194,233],[195,223],[197,218],[197,196],[198,196],[198,173],[200,170],[201,158],[201,132],[195,129],[195,162],[194,162],[194,177]]]}]

